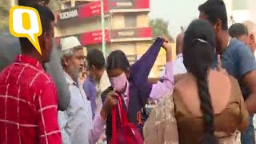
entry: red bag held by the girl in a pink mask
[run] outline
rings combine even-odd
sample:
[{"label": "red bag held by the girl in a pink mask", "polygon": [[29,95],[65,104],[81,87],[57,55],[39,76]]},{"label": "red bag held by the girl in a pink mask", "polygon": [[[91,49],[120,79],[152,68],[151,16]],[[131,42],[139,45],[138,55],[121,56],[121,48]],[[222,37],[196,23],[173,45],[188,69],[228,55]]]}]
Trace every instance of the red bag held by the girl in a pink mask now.
[{"label": "red bag held by the girl in a pink mask", "polygon": [[[117,114],[120,122],[117,122]],[[127,118],[122,99],[118,96],[118,105],[112,109],[112,139],[110,144],[143,144],[141,133]]]}]

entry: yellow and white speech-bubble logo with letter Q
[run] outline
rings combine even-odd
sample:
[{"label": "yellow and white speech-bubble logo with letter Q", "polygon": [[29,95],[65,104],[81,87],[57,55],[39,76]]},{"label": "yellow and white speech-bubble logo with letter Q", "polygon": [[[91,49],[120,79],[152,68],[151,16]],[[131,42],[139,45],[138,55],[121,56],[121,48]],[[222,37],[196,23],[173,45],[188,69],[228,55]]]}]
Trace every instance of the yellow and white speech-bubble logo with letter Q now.
[{"label": "yellow and white speech-bubble logo with letter Q", "polygon": [[42,54],[38,42],[38,37],[42,34],[38,10],[27,6],[11,7],[9,30],[14,37],[28,38],[36,50]]}]

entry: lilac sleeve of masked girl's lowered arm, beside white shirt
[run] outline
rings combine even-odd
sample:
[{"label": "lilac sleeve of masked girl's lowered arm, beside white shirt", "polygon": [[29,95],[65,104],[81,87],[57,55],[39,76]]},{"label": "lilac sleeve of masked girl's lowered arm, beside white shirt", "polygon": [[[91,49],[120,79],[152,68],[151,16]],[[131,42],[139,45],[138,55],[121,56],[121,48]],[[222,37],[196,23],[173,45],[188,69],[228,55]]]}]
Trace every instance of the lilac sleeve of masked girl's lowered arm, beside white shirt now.
[{"label": "lilac sleeve of masked girl's lowered arm, beside white shirt", "polygon": [[89,133],[89,143],[95,144],[101,137],[103,130],[105,129],[106,121],[102,119],[101,114],[96,114],[94,117],[94,126]]}]

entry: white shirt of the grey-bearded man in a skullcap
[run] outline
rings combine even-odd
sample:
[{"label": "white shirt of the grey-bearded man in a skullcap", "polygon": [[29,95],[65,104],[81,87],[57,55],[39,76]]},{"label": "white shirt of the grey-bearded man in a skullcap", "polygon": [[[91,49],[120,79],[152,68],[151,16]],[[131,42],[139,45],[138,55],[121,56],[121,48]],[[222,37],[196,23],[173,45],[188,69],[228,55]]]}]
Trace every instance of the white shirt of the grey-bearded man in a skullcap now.
[{"label": "white shirt of the grey-bearded man in a skullcap", "polygon": [[[59,124],[63,127],[63,143],[89,144],[88,135],[93,128],[90,101],[86,98],[81,83],[74,82],[66,73],[65,76],[71,97],[67,110],[65,112],[59,112],[59,116],[62,117],[59,118]],[[67,136],[69,138],[66,138]]]}]

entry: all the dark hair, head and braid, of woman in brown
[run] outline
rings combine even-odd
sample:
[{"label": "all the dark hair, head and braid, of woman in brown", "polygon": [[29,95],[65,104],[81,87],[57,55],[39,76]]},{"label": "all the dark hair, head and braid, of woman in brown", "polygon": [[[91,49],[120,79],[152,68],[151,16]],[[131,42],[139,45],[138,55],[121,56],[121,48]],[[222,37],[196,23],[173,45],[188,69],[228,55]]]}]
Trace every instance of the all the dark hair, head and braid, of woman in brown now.
[{"label": "all the dark hair, head and braid, of woman in brown", "polygon": [[185,32],[183,62],[186,69],[197,79],[205,128],[202,144],[218,143],[218,138],[214,135],[214,110],[208,87],[208,71],[214,60],[214,42],[214,28],[210,22],[194,20]]}]

